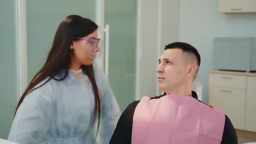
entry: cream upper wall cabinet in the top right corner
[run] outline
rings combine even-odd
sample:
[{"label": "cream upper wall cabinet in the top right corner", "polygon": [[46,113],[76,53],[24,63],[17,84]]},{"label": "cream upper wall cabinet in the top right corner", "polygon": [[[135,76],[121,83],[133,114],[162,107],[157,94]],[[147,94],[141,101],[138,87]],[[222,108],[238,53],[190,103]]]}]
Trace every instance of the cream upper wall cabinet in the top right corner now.
[{"label": "cream upper wall cabinet in the top right corner", "polygon": [[256,13],[256,0],[219,0],[220,13]]}]

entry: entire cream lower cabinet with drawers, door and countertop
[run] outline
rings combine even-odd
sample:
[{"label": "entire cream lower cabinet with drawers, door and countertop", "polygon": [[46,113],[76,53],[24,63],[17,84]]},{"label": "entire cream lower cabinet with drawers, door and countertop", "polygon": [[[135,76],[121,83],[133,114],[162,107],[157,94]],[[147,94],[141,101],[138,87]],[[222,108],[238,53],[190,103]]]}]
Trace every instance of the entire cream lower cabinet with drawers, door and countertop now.
[{"label": "entire cream lower cabinet with drawers, door and countertop", "polygon": [[256,73],[210,71],[209,105],[221,109],[234,128],[256,132]]}]

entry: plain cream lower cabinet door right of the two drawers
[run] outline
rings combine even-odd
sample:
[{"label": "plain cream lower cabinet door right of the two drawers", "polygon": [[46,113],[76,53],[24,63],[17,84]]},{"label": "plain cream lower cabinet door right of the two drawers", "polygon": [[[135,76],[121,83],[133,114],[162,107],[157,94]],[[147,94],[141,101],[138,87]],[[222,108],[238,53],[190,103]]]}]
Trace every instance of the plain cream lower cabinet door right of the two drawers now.
[{"label": "plain cream lower cabinet door right of the two drawers", "polygon": [[256,131],[256,76],[247,76],[245,130]]}]

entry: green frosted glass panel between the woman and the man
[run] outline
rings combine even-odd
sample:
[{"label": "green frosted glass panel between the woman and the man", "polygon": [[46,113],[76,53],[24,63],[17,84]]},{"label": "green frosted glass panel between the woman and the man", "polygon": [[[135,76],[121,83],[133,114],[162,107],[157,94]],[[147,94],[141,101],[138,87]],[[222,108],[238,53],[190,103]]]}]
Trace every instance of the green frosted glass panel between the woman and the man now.
[{"label": "green frosted glass panel between the woman and the man", "polygon": [[135,100],[137,0],[105,0],[109,82],[121,111]]}]

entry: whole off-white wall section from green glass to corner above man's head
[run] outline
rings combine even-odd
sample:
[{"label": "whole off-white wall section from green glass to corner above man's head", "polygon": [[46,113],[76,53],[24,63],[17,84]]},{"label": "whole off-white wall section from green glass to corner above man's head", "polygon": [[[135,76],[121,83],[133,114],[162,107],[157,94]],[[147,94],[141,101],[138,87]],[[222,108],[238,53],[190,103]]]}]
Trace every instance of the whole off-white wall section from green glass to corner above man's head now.
[{"label": "whole off-white wall section from green glass to corner above man's head", "polygon": [[[164,46],[178,40],[180,13],[179,0],[162,0],[161,23],[159,23],[159,0],[139,0],[139,3],[138,48],[142,49],[142,54],[138,59],[138,100],[143,95],[159,95],[156,73],[158,48],[161,49],[161,54]],[[159,36],[160,47],[158,46]]]}]

